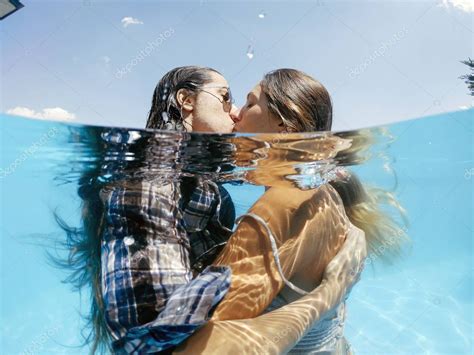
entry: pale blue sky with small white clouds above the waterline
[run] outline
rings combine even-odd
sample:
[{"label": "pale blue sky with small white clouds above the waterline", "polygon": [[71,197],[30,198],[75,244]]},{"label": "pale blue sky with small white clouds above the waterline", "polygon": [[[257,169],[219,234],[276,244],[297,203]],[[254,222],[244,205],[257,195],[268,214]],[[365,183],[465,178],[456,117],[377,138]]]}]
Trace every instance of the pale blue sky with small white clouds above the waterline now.
[{"label": "pale blue sky with small white clouds above the waterline", "polygon": [[190,64],[221,71],[237,104],[301,69],[332,94],[334,130],[472,106],[472,0],[23,4],[0,23],[1,112],[144,127],[160,77]]}]

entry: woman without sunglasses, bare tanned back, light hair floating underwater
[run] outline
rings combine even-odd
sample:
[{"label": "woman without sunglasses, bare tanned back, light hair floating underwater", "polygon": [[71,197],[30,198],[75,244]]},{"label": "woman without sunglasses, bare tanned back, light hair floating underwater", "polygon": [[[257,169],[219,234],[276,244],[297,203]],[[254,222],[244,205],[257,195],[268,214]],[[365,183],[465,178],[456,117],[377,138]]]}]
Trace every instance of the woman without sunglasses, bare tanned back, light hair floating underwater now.
[{"label": "woman without sunglasses, bare tanned back, light hair floating underwater", "polygon": [[[302,156],[306,156],[308,161],[334,159],[344,165],[361,162],[362,154],[358,153],[370,146],[370,136],[356,132],[346,139],[329,134],[308,139],[294,134],[329,131],[331,124],[329,93],[301,71],[270,72],[247,95],[234,131],[271,133],[249,138],[267,142],[269,149],[267,153],[259,150],[265,158],[246,174],[247,180],[266,185],[267,189],[248,213],[239,217],[237,230],[214,262],[232,270],[228,294],[217,306],[211,322],[193,335],[182,351],[255,351],[262,346],[258,349],[267,352],[349,352],[343,338],[344,299],[354,280],[344,279],[344,284],[341,274],[331,279],[327,270],[338,264],[339,271],[344,269],[338,259],[343,250],[349,253],[346,257],[354,253],[353,260],[359,262],[367,255],[366,245],[368,252],[383,246],[387,259],[396,255],[406,236],[380,204],[392,204],[402,216],[404,210],[390,193],[364,186],[346,169],[339,169],[336,178],[311,190],[301,190],[283,178],[297,173],[294,157],[304,160]],[[275,133],[279,133],[276,140]],[[245,155],[246,144],[255,147],[251,142],[239,143],[236,154]],[[350,243],[354,243],[352,251],[347,249]],[[345,271],[357,278],[361,270]],[[331,295],[331,290],[337,294],[338,287],[346,287],[342,299]],[[310,305],[315,300],[319,302],[313,308],[317,316],[312,318]],[[259,337],[271,338],[268,329],[278,333],[281,324],[276,320],[282,316],[299,325],[300,332],[289,332],[285,341],[280,339],[272,346],[263,342],[265,347]],[[308,318],[313,324],[309,329],[302,320]],[[249,319],[261,322],[259,331],[248,330]],[[232,330],[237,340],[224,338],[226,330]],[[242,338],[245,341],[239,341]]]}]

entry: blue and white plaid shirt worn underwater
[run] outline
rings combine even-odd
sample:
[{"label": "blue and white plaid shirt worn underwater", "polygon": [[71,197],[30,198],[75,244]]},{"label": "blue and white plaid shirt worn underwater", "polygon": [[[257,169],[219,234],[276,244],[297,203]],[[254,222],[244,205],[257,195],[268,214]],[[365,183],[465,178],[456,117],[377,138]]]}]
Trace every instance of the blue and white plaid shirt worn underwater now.
[{"label": "blue and white plaid shirt worn underwater", "polygon": [[[219,219],[222,191],[204,181],[181,204],[174,182],[124,180],[102,188],[102,295],[116,353],[172,348],[202,326],[227,293],[228,267],[208,266],[193,278],[190,263],[190,254],[199,259],[230,236]],[[204,247],[194,241],[199,248],[193,252],[189,235],[209,229],[225,233],[216,242],[209,233]]]}]

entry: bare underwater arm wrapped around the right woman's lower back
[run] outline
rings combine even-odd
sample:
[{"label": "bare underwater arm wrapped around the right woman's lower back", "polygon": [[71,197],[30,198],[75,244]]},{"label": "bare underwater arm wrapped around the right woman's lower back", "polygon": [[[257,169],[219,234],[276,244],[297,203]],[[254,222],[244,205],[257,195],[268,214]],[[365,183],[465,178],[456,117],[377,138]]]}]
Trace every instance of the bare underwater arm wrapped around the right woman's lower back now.
[{"label": "bare underwater arm wrapped around the right woman's lower back", "polygon": [[359,280],[367,256],[364,232],[351,226],[343,247],[324,271],[321,284],[306,296],[253,319],[209,322],[176,353],[265,353],[289,351]]}]

